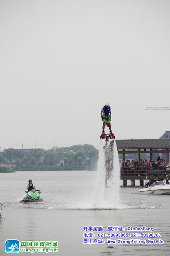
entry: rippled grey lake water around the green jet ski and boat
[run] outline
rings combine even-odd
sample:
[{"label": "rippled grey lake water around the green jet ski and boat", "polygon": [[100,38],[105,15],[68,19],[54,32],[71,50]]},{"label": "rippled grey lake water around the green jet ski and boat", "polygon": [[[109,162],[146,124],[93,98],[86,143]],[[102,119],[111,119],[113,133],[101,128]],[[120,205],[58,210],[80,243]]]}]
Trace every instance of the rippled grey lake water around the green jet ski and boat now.
[{"label": "rippled grey lake water around the green jet ski and boat", "polygon": [[[58,252],[18,253],[26,256],[169,255],[170,196],[138,195],[139,188],[120,188],[117,209],[112,209],[107,203],[105,209],[102,205],[101,209],[99,205],[95,208],[93,195],[96,174],[95,171],[0,173],[0,200],[3,199],[5,202],[3,207],[5,220],[0,221],[0,255],[7,255],[5,240],[8,239],[26,242],[58,241]],[[32,179],[36,188],[41,190],[43,202],[19,203],[26,194],[25,189],[29,179]],[[106,188],[106,193],[107,189],[109,188]],[[110,202],[114,201],[114,197],[115,195],[110,196]],[[128,226],[152,227],[153,232],[149,233],[161,233],[160,239],[164,244],[108,244],[106,236],[103,238],[105,244],[83,244],[84,226],[103,227],[103,232],[86,232],[92,232],[96,239],[101,239],[97,237],[98,233],[108,234],[108,226],[122,226],[125,228],[123,232],[128,232],[129,236]],[[114,240],[113,237],[110,239]],[[148,238],[138,237],[138,239]]]}]

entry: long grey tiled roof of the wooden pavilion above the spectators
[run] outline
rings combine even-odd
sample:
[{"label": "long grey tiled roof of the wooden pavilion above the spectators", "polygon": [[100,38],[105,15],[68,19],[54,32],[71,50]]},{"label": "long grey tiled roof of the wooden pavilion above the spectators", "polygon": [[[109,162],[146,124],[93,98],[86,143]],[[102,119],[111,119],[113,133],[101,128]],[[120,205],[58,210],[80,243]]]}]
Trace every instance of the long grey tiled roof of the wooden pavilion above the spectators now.
[{"label": "long grey tiled roof of the wooden pavilion above the spectators", "polygon": [[[110,142],[113,144],[113,140]],[[170,139],[116,140],[118,149],[170,148]]]}]

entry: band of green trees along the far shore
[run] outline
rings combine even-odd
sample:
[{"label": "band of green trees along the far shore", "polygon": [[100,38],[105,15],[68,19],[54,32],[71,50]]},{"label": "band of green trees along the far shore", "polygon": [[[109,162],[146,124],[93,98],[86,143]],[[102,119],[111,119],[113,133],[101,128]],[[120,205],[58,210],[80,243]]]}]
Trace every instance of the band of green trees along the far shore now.
[{"label": "band of green trees along the far shore", "polygon": [[0,152],[0,164],[13,163],[16,166],[95,165],[97,160],[98,150],[89,144],[49,150],[8,148]]}]

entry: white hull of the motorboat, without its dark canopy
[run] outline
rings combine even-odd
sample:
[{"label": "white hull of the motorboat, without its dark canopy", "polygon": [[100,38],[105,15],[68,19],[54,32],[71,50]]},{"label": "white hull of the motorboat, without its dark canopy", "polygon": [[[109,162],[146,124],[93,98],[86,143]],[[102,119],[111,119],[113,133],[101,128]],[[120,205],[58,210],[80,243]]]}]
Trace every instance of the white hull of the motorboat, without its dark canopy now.
[{"label": "white hull of the motorboat, without its dark canopy", "polygon": [[166,185],[163,180],[155,181],[150,187],[140,189],[138,193],[143,195],[170,195],[170,185]]}]

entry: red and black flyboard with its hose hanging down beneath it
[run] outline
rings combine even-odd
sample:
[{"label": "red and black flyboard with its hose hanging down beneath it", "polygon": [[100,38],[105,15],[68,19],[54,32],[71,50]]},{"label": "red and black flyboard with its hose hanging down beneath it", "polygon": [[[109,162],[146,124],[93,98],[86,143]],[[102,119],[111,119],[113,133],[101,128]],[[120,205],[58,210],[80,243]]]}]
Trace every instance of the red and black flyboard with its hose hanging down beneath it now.
[{"label": "red and black flyboard with its hose hanging down beneath it", "polygon": [[110,146],[109,140],[114,140],[114,134],[101,134],[100,139],[106,140],[105,143],[105,186],[107,186],[107,180],[111,178],[113,172],[113,147]]}]

